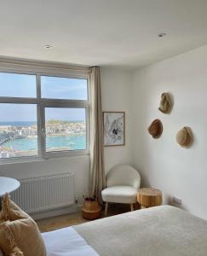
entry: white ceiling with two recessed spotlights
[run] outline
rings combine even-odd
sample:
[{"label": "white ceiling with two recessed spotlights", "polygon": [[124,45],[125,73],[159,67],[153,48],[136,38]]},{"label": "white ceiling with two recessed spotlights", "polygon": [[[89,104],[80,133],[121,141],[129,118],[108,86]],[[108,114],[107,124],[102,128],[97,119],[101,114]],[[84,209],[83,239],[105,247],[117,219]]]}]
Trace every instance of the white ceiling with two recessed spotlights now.
[{"label": "white ceiling with two recessed spotlights", "polygon": [[2,56],[135,68],[204,44],[207,0],[0,0]]}]

